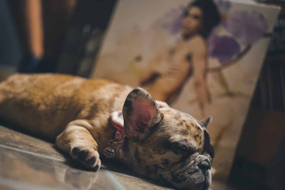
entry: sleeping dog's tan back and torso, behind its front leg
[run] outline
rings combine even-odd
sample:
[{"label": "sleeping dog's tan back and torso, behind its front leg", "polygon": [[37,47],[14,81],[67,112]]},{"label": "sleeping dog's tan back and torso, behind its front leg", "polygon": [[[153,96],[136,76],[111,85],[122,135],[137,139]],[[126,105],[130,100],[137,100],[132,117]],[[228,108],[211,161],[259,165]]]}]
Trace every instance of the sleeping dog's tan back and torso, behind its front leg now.
[{"label": "sleeping dog's tan back and torso, behind its front leg", "polygon": [[[54,139],[74,119],[91,118],[97,112],[102,112],[104,118],[104,112],[108,113],[105,117],[109,117],[110,112],[121,110],[131,90],[102,79],[15,74],[0,83],[0,117]],[[119,96],[123,97],[116,98]]]}]

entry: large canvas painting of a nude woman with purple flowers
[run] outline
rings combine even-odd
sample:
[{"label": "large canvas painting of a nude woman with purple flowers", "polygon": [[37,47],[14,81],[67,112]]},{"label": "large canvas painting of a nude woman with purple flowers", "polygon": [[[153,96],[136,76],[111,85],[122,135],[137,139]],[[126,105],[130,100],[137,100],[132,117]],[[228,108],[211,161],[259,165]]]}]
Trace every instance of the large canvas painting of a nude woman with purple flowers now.
[{"label": "large canvas painting of a nude woman with purple flowers", "polygon": [[226,179],[279,8],[252,1],[121,0],[91,78],[146,88],[208,127]]}]

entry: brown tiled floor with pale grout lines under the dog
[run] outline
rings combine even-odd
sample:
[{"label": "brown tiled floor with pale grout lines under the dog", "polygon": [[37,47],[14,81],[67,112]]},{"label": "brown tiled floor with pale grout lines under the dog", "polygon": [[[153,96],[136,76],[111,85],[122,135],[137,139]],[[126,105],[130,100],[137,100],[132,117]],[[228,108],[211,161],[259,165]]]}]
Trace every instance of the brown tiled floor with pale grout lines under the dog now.
[{"label": "brown tiled floor with pale grout lines under the dog", "polygon": [[[226,189],[218,179],[211,188]],[[172,188],[135,177],[125,166],[108,161],[103,161],[98,172],[84,170],[54,144],[0,125],[0,189]]]}]

